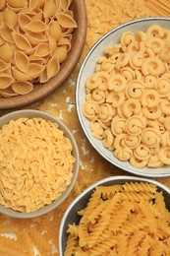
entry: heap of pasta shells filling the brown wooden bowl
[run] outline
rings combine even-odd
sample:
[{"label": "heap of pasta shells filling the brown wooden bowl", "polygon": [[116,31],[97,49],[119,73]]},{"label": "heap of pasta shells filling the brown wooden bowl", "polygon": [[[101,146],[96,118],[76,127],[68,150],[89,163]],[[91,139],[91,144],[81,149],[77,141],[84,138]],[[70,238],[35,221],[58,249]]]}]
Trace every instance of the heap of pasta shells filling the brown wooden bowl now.
[{"label": "heap of pasta shells filling the brown wooden bowl", "polygon": [[26,95],[60,70],[77,28],[72,1],[0,3],[0,96]]}]

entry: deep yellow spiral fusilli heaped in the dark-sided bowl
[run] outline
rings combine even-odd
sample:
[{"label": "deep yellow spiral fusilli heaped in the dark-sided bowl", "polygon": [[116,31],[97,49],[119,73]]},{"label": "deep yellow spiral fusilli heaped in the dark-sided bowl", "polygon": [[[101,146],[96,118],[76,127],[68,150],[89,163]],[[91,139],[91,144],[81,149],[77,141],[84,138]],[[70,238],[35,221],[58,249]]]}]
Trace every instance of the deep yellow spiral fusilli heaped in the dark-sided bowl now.
[{"label": "deep yellow spiral fusilli heaped in the dark-sided bowl", "polygon": [[155,185],[98,186],[78,215],[64,256],[169,255],[170,212]]}]

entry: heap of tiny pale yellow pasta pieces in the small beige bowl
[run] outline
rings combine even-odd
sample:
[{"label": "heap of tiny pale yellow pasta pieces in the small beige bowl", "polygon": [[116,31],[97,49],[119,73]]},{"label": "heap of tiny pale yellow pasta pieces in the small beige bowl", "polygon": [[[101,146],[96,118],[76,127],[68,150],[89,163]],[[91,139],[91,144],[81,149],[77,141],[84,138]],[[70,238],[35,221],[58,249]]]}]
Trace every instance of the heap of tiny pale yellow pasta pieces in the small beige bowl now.
[{"label": "heap of tiny pale yellow pasta pieces in the small beige bowl", "polygon": [[19,118],[0,130],[0,204],[33,212],[56,200],[73,177],[72,144],[57,123]]}]

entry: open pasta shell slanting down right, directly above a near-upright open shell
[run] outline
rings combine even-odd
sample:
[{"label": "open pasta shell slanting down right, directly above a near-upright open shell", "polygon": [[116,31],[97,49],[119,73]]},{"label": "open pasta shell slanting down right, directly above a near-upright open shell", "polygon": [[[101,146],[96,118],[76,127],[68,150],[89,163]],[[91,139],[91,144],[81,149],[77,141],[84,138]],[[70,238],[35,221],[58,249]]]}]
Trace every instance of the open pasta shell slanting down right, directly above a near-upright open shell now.
[{"label": "open pasta shell slanting down right, directly above a near-upright open shell", "polygon": [[22,49],[22,50],[30,50],[31,49],[31,44],[28,41],[28,38],[24,35],[21,34],[20,32],[12,32],[14,41],[16,45]]}]

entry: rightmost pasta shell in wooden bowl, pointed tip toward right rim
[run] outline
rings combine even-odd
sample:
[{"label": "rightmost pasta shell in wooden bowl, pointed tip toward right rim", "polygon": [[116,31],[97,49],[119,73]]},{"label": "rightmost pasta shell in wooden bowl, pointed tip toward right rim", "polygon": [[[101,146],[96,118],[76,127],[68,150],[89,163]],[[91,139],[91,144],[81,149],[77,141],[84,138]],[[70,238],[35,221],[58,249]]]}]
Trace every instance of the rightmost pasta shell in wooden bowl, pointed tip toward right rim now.
[{"label": "rightmost pasta shell in wooden bowl, pointed tip toward right rim", "polygon": [[77,28],[78,25],[75,22],[75,20],[68,15],[66,12],[64,13],[57,13],[56,14],[56,18],[59,22],[59,24],[63,27],[63,28]]}]

